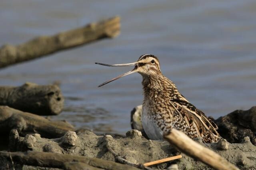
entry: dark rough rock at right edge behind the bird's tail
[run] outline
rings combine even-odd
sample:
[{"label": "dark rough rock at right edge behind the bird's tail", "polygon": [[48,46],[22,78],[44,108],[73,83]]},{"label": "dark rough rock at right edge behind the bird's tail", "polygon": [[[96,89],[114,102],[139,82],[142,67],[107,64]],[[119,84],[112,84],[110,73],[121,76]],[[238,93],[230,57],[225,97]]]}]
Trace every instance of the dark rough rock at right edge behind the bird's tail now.
[{"label": "dark rough rock at right edge behind the bird's tail", "polygon": [[236,110],[218,118],[218,132],[230,143],[242,142],[249,136],[252,144],[256,145],[256,107],[247,111]]}]

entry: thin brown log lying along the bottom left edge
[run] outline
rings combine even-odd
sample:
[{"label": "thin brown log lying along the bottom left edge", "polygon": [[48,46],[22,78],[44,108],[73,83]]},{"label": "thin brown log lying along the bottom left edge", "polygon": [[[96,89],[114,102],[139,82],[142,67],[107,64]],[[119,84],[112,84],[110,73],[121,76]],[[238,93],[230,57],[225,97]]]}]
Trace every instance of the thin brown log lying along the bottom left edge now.
[{"label": "thin brown log lying along the bottom left edge", "polygon": [[[59,154],[59,153],[50,153],[50,152],[37,152],[37,151],[28,151],[28,152],[4,152],[0,151],[0,157],[7,158],[14,163],[33,165],[33,166],[42,166],[42,167],[51,167],[51,168],[64,168],[71,169],[70,164],[67,165],[67,162],[82,162],[86,166],[88,164],[90,167],[102,168],[106,170],[138,170],[133,166],[128,166],[124,164],[119,164],[116,162],[103,160],[99,158],[89,158],[86,156],[75,156],[68,154]],[[75,164],[74,164],[75,165]],[[92,167],[91,167],[92,166]]]}]

